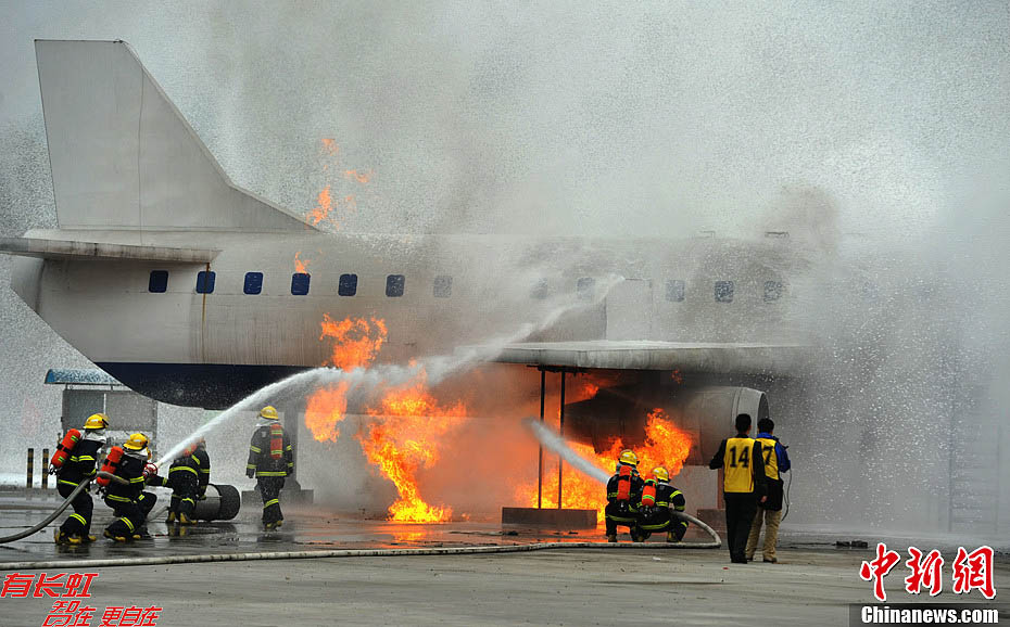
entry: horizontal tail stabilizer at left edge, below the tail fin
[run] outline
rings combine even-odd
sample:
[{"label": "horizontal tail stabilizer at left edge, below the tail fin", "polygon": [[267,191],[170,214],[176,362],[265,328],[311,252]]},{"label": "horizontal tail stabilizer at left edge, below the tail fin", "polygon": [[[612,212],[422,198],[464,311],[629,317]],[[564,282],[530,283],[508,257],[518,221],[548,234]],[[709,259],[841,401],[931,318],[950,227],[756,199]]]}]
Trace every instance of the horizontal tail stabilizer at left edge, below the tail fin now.
[{"label": "horizontal tail stabilizer at left edge, below the tail fin", "polygon": [[209,264],[220,251],[171,248],[135,244],[102,244],[34,238],[0,238],[0,253],[42,259],[144,260],[175,264]]}]

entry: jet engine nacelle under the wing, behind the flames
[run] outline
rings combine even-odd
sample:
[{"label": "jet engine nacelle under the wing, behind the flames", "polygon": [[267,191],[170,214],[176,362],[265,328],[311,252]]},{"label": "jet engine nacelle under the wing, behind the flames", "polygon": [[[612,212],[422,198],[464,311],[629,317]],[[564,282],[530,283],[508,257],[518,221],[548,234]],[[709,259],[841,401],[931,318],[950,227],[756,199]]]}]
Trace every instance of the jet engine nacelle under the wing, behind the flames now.
[{"label": "jet engine nacelle under the wing, behind the flames", "polygon": [[707,464],[719,443],[735,432],[740,413],[750,414],[752,434],[757,421],[768,418],[768,396],[749,387],[709,385],[678,387],[672,395],[651,397],[635,386],[602,388],[595,397],[565,406],[565,436],[591,444],[597,452],[610,449],[614,440],[626,446],[645,443],[649,412],[661,408],[674,425],[692,437],[685,463]]}]

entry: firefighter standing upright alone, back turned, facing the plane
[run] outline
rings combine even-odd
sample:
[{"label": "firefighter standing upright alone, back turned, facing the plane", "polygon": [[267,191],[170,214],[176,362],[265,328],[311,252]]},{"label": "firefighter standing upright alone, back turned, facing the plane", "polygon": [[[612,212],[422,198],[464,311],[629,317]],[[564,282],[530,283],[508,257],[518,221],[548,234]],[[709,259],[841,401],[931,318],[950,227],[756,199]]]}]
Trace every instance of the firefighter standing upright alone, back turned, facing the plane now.
[{"label": "firefighter standing upright alone, back turned, facing the plane", "polygon": [[256,488],[263,498],[263,528],[272,530],[285,522],[280,511],[280,488],[285,477],[294,473],[294,449],[277,417],[277,410],[266,406],[260,411],[260,423],[249,443],[245,476],[256,477]]}]

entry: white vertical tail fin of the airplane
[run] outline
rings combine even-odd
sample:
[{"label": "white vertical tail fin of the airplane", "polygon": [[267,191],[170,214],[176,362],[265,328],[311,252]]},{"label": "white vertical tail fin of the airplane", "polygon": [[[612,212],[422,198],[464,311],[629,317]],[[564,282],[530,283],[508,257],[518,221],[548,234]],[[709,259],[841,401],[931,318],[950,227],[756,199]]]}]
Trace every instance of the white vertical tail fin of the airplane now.
[{"label": "white vertical tail fin of the airplane", "polygon": [[228,179],[126,42],[35,50],[61,229],[312,229]]}]

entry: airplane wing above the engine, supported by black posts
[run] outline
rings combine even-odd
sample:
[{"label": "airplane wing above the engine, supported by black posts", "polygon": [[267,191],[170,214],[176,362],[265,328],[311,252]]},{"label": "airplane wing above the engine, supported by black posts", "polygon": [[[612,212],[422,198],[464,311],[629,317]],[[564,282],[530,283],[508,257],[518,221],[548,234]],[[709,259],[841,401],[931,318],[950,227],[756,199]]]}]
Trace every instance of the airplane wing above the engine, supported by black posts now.
[{"label": "airplane wing above the engine, supported by black posts", "polygon": [[593,340],[507,344],[492,361],[581,369],[787,376],[803,373],[812,354],[812,346],[799,344]]}]

